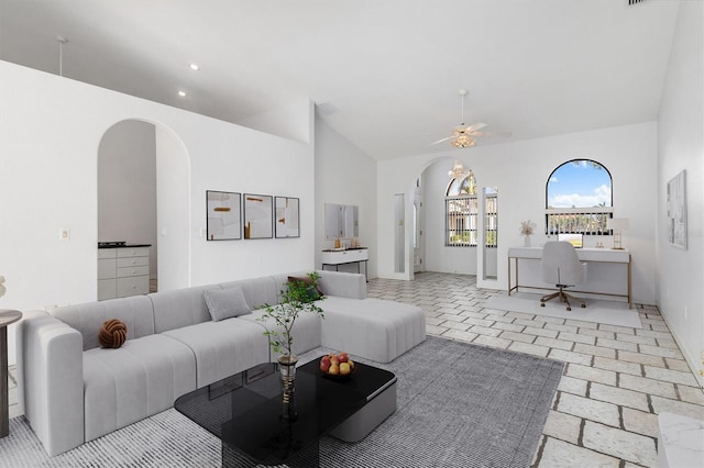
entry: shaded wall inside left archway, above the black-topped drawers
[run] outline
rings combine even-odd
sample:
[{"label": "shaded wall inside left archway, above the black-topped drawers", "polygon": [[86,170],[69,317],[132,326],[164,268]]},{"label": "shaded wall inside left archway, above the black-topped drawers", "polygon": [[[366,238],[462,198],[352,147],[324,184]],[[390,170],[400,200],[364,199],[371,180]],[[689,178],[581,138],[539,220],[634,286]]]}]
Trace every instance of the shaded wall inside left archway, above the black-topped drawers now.
[{"label": "shaded wall inside left archway, above the black-topped drawers", "polygon": [[151,244],[156,278],[156,135],[136,120],[110,127],[98,148],[98,241]]}]

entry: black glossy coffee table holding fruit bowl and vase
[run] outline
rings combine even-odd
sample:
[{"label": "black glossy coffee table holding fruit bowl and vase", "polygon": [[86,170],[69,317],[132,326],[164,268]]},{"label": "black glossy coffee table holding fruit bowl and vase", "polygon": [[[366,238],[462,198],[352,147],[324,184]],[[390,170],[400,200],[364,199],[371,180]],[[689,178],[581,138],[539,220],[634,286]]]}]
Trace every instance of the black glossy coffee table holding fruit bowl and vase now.
[{"label": "black glossy coffee table holding fruit bowl and vase", "polygon": [[222,466],[319,466],[319,439],[364,437],[396,410],[396,376],[356,364],[338,380],[319,359],[296,370],[296,417],[282,417],[278,365],[267,363],[178,398],[176,410],[222,441]]}]

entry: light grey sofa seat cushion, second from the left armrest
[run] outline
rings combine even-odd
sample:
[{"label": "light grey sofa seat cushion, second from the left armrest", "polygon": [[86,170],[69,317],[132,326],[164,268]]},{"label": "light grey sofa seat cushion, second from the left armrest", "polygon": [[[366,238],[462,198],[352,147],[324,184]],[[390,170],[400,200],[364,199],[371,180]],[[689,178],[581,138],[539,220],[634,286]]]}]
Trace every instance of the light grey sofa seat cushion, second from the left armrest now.
[{"label": "light grey sofa seat cushion, second from the left armrest", "polygon": [[198,388],[267,363],[270,358],[264,327],[242,317],[204,322],[164,334],[193,350]]}]

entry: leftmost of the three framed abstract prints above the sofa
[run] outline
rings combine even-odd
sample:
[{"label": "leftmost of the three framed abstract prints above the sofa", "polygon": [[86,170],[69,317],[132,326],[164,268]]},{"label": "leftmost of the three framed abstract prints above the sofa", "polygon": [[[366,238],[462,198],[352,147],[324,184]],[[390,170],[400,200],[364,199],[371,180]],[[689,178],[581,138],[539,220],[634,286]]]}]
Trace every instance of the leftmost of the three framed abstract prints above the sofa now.
[{"label": "leftmost of the three framed abstract prints above the sofa", "polygon": [[206,238],[208,241],[242,238],[241,207],[240,193],[206,190]]}]

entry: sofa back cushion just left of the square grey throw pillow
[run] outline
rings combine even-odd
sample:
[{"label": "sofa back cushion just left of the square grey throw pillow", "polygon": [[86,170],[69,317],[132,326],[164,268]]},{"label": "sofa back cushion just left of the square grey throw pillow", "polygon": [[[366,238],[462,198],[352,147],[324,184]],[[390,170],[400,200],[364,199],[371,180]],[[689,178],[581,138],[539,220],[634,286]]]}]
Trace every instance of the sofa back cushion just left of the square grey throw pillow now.
[{"label": "sofa back cushion just left of the square grey throw pillow", "polygon": [[154,307],[155,333],[210,321],[210,312],[202,293],[211,289],[220,288],[210,285],[148,294]]}]

